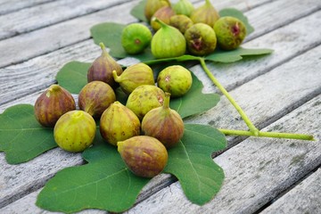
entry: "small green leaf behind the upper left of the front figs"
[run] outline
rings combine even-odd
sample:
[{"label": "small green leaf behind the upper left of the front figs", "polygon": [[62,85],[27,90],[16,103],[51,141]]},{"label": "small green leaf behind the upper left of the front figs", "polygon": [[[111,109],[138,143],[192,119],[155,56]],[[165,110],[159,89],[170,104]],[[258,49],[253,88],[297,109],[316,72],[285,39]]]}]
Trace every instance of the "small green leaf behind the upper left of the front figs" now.
[{"label": "small green leaf behind the upper left of the front figs", "polygon": [[78,94],[87,83],[87,71],[91,63],[68,62],[58,71],[56,79],[58,84],[72,94]]}]

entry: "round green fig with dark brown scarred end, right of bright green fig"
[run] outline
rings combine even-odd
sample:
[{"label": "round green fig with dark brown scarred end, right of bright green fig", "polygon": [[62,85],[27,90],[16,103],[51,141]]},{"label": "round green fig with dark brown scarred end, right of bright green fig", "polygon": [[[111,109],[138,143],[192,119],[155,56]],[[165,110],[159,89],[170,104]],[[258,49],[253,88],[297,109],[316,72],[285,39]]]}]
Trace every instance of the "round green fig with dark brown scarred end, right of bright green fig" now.
[{"label": "round green fig with dark brown scarred end, right of bright green fig", "polygon": [[187,50],[193,55],[207,55],[214,52],[217,37],[214,29],[204,23],[196,23],[185,31]]}]

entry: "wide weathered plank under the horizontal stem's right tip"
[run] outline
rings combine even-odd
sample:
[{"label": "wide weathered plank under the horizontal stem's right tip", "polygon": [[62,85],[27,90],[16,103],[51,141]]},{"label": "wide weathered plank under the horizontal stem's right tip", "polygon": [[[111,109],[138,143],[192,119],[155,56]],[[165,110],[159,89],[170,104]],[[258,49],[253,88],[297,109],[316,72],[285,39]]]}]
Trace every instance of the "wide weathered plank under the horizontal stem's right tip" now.
[{"label": "wide weathered plank under the horizontal stem's right tip", "polygon": [[[320,139],[320,103],[318,95],[265,130],[312,133]],[[251,137],[214,161],[224,169],[226,179],[209,203],[198,206],[189,202],[177,182],[125,213],[253,213],[320,165],[321,144]]]}]

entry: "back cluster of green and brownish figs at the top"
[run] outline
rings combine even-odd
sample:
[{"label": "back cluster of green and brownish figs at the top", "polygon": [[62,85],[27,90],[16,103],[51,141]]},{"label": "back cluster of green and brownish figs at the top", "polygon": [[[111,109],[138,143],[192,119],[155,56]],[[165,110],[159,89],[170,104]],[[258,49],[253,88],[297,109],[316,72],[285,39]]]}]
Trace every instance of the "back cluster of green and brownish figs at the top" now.
[{"label": "back cluster of green and brownish figs at the top", "polygon": [[129,24],[123,30],[122,45],[129,54],[142,53],[150,45],[155,58],[185,53],[202,56],[213,53],[217,46],[234,50],[246,36],[243,21],[220,17],[210,0],[198,8],[189,0],[179,0],[177,4],[147,0],[144,15],[152,30],[142,23]]}]

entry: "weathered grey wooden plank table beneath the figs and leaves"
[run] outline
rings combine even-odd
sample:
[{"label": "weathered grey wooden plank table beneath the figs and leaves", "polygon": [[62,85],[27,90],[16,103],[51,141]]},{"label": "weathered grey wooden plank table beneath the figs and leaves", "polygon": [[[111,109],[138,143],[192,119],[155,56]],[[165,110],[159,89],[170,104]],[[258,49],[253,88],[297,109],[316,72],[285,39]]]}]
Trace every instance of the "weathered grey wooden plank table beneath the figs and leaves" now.
[{"label": "weathered grey wooden plank table beneath the figs and leaves", "polygon": [[[99,47],[93,25],[136,22],[129,14],[139,1],[1,0],[0,112],[33,104],[55,83],[62,65],[92,62]],[[227,136],[228,150],[215,157],[226,174],[216,197],[197,206],[169,175],[152,179],[128,213],[321,213],[321,1],[212,1],[235,7],[255,31],[244,47],[274,53],[209,67],[253,123],[262,130],[312,134],[314,142]],[[194,5],[203,1],[193,1]],[[190,68],[204,93],[218,92],[199,65]],[[247,129],[224,96],[188,122]],[[79,153],[56,148],[32,161],[10,165],[0,152],[0,213],[49,213],[35,205],[37,193],[60,170],[83,164]],[[99,210],[82,213],[103,213]]]}]

